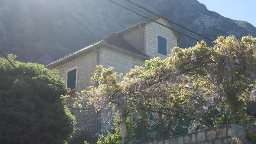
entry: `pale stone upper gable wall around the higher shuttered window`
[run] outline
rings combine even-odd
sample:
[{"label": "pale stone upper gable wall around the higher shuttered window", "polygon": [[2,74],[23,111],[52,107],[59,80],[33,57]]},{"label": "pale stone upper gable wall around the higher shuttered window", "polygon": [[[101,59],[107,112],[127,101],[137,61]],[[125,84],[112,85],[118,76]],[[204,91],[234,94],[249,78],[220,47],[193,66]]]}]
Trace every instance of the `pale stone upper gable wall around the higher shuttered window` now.
[{"label": "pale stone upper gable wall around the higher shuttered window", "polygon": [[[166,25],[163,19],[157,19],[156,21]],[[166,56],[157,53],[157,35],[167,39],[167,55],[171,53],[172,48],[177,46],[177,38],[171,29],[168,29],[167,27],[155,22],[145,26],[145,53],[151,58],[158,56],[161,59],[165,59]]]}]

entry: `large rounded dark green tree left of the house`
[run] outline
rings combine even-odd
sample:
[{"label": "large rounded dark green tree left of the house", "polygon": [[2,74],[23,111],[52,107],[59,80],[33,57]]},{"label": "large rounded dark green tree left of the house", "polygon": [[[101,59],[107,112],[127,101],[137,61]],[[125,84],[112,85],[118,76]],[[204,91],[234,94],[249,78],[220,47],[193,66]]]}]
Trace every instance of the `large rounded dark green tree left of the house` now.
[{"label": "large rounded dark green tree left of the house", "polygon": [[0,143],[64,143],[75,123],[61,99],[69,89],[56,72],[15,57],[8,55],[19,72],[0,58]]}]

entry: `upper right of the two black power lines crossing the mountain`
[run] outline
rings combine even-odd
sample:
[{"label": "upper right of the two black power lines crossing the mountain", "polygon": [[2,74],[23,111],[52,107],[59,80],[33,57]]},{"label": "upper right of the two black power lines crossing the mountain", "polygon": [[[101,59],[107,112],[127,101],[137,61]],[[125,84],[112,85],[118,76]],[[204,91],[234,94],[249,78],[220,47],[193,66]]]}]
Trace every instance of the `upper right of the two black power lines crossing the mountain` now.
[{"label": "upper right of the two black power lines crossing the mountain", "polygon": [[163,17],[163,16],[161,16],[161,15],[159,15],[159,14],[157,14],[157,13],[154,13],[153,11],[149,11],[147,8],[144,8],[144,7],[142,7],[141,5],[138,5],[137,3],[133,3],[131,0],[126,0],[126,1],[128,1],[129,3],[131,3],[131,4],[133,4],[133,5],[136,5],[137,7],[141,8],[141,9],[143,9],[143,10],[149,12],[149,13],[152,13],[152,14],[154,14],[154,15],[156,15],[156,16],[159,16],[160,18],[165,19],[166,21],[169,21],[169,22],[171,22],[171,23],[173,23],[173,24],[175,24],[175,25],[177,25],[177,26],[179,26],[179,27],[181,27],[181,28],[183,28],[183,29],[186,29],[186,30],[189,31],[189,32],[192,32],[192,33],[194,33],[194,34],[196,34],[196,35],[199,35],[199,36],[201,36],[201,37],[203,37],[203,38],[205,38],[205,39],[210,40],[210,41],[213,42],[213,40],[211,40],[210,38],[205,37],[205,36],[203,36],[203,35],[201,35],[201,34],[199,34],[199,33],[197,33],[197,32],[194,32],[194,31],[192,31],[192,30],[190,30],[190,29],[188,29],[188,28],[186,28],[186,27],[184,27],[184,26],[181,26],[180,24],[177,24],[177,23],[175,23],[175,22],[173,22],[173,21],[171,21],[171,20],[169,20],[169,19],[166,19],[165,17]]}]

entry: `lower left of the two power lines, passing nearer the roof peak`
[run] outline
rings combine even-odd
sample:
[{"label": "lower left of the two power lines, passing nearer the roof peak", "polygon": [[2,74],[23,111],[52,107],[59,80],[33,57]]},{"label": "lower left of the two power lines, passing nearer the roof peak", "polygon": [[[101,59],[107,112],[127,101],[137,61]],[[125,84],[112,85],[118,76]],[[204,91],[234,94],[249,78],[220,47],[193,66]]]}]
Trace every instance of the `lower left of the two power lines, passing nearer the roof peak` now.
[{"label": "lower left of the two power lines, passing nearer the roof peak", "polygon": [[153,19],[151,19],[151,18],[149,18],[149,17],[147,17],[147,16],[144,16],[144,15],[142,15],[142,14],[140,14],[140,13],[137,13],[136,11],[133,11],[133,10],[131,10],[130,8],[127,8],[127,7],[123,6],[123,5],[120,5],[119,3],[116,3],[116,2],[114,2],[113,0],[108,0],[108,1],[111,2],[111,3],[114,3],[115,5],[118,5],[118,6],[122,7],[122,8],[124,8],[124,9],[128,10],[128,11],[131,11],[131,12],[133,12],[133,13],[135,13],[135,14],[141,16],[141,17],[144,17],[144,18],[146,18],[146,19],[149,19],[150,21],[154,21],[155,23],[160,24],[160,25],[162,25],[163,27],[166,27],[166,28],[171,29],[171,30],[173,30],[173,31],[175,31],[175,32],[178,32],[178,33],[181,34],[181,35],[184,35],[184,36],[186,36],[186,37],[189,37],[189,38],[191,38],[191,39],[193,39],[193,40],[196,40],[196,41],[198,41],[198,42],[201,41],[201,40],[198,40],[198,39],[196,39],[196,38],[194,38],[194,37],[191,37],[191,36],[189,36],[189,35],[186,35],[186,34],[184,34],[184,33],[182,33],[182,32],[179,32],[179,31],[177,31],[177,30],[175,30],[175,29],[173,29],[173,28],[171,28],[171,27],[165,26],[164,24],[161,24],[160,22],[155,21],[155,20],[153,20]]}]

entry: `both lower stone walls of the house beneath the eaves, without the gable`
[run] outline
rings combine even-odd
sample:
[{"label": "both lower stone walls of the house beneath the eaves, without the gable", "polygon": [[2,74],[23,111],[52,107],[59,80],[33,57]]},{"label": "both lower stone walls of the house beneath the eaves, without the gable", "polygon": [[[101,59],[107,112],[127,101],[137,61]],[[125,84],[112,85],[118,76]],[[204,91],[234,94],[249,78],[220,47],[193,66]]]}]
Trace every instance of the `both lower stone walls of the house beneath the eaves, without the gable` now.
[{"label": "both lower stone walls of the house beneath the eaves, without the gable", "polygon": [[[124,75],[130,72],[130,69],[134,68],[135,65],[144,65],[144,59],[140,59],[137,56],[133,56],[128,53],[113,50],[112,48],[98,47],[99,51],[99,64],[104,67],[114,67],[115,72],[118,74],[123,73]],[[96,67],[96,53],[91,51],[75,59],[67,61],[51,69],[59,71],[59,75],[64,81],[67,81],[67,70],[77,67],[77,88],[74,91],[80,92],[85,90],[91,84],[91,77],[95,72]],[[72,95],[68,101],[68,106],[73,107],[75,102],[74,99],[77,95]],[[75,115],[77,124],[75,128],[78,130],[75,136],[83,136],[78,139],[86,139],[90,141],[95,134],[96,124],[96,112],[94,109],[88,110],[77,110],[70,109],[73,115]],[[109,127],[106,123],[103,123],[101,117],[107,115],[107,112],[100,112],[98,117],[98,132],[106,132],[106,127]]]}]

